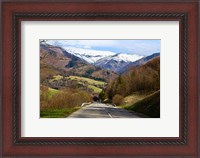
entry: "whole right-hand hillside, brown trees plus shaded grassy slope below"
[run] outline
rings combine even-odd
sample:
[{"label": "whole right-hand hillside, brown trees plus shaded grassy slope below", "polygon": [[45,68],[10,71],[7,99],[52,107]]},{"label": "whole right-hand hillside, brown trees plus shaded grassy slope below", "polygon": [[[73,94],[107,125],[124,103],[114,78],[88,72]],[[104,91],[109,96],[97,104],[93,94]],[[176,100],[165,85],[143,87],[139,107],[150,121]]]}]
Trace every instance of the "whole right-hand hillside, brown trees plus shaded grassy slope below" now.
[{"label": "whole right-hand hillside, brown trees plus shaded grassy slope below", "polygon": [[[133,67],[123,75],[108,84],[104,93],[100,97],[103,99],[107,97],[107,102],[112,102],[117,106],[122,106],[129,110],[144,113],[152,117],[160,116],[160,57],[156,57],[151,61],[140,67]],[[151,94],[156,95],[149,97]],[[159,93],[159,94],[158,94]],[[102,95],[104,94],[104,95]],[[142,97],[141,97],[142,96]],[[135,100],[129,102],[127,98],[140,98],[148,100],[143,101],[141,104],[136,104]],[[130,99],[129,99],[130,100]],[[152,103],[151,110],[147,110],[148,106]],[[126,105],[126,106],[123,106]],[[135,108],[134,108],[135,106]],[[148,111],[148,112],[147,112]]]}]

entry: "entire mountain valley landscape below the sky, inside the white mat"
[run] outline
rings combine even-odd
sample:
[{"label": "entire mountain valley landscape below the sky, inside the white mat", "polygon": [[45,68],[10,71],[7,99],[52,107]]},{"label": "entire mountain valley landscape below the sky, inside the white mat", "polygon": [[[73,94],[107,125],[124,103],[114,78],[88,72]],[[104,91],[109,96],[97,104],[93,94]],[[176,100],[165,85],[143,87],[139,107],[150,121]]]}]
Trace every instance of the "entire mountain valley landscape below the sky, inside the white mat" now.
[{"label": "entire mountain valley landscape below the sky, inside the white mat", "polygon": [[40,43],[42,118],[75,117],[85,108],[111,109],[122,118],[160,117],[159,90],[159,53],[144,57]]}]

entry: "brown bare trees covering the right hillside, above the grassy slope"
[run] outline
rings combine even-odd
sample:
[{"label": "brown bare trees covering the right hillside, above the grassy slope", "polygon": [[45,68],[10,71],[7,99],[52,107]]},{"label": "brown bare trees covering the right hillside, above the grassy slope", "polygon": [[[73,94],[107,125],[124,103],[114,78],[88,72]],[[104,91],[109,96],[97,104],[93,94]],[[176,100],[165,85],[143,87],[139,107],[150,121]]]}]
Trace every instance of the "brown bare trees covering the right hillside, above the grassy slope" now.
[{"label": "brown bare trees covering the right hillside, above the grassy slope", "polygon": [[134,92],[150,92],[160,89],[160,57],[140,67],[131,68],[125,74],[110,82],[99,97],[120,104],[124,97]]}]

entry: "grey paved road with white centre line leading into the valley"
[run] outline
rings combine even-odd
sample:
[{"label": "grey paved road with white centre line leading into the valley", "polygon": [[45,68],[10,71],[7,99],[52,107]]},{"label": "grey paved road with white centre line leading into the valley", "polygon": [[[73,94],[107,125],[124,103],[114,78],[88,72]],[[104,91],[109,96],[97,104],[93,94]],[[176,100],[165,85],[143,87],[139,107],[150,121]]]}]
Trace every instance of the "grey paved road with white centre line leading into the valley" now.
[{"label": "grey paved road with white centre line leading into the valley", "polygon": [[102,103],[92,103],[72,113],[68,118],[142,118],[144,116]]}]

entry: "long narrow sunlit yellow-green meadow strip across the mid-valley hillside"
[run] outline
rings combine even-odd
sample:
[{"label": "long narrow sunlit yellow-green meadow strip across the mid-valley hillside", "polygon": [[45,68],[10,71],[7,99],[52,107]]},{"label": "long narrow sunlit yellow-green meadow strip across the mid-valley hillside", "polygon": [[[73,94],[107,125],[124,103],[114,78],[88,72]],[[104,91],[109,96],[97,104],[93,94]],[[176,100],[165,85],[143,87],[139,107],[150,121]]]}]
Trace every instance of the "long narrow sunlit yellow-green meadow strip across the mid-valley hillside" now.
[{"label": "long narrow sunlit yellow-green meadow strip across the mid-valley hillside", "polygon": [[77,80],[77,81],[81,81],[81,82],[87,82],[88,84],[92,84],[92,85],[104,86],[106,84],[106,82],[103,82],[103,81],[96,81],[96,80],[93,80],[90,78],[79,77],[79,76],[69,76],[69,77],[67,77],[67,79]]}]

